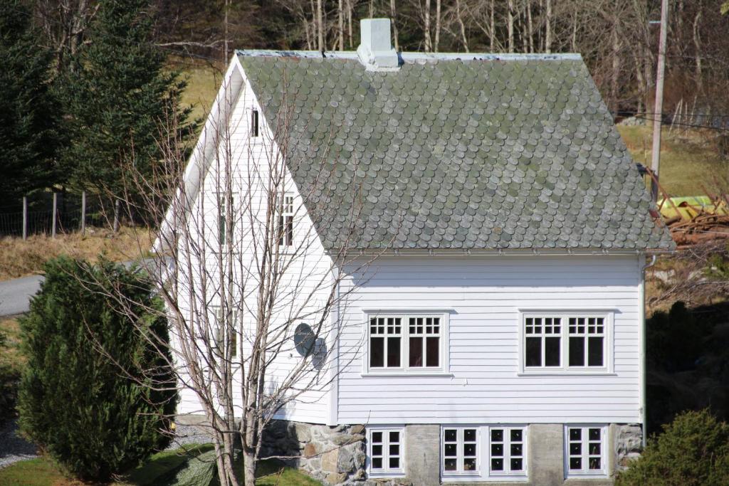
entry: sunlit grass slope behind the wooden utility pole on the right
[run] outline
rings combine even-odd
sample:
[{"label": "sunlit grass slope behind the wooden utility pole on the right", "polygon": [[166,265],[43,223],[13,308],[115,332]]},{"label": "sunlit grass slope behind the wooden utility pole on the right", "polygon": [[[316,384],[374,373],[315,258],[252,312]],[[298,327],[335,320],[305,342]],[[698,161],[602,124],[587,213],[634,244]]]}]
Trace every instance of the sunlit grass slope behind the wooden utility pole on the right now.
[{"label": "sunlit grass slope behind the wooden utility pole on the right", "polygon": [[[650,167],[652,127],[618,126],[636,162]],[[713,133],[706,130],[663,128],[660,144],[660,184],[671,196],[705,195],[716,189],[715,177],[729,176],[729,162],[722,160]]]}]

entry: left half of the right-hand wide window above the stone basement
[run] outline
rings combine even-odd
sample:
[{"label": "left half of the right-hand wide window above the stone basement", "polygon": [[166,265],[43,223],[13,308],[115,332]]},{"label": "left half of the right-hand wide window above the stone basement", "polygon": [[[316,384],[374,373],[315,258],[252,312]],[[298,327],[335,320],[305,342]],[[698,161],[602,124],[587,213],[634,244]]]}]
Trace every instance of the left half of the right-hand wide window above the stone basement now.
[{"label": "left half of the right-hand wide window above the stone basement", "polygon": [[562,321],[558,317],[528,317],[524,321],[524,366],[559,367]]}]

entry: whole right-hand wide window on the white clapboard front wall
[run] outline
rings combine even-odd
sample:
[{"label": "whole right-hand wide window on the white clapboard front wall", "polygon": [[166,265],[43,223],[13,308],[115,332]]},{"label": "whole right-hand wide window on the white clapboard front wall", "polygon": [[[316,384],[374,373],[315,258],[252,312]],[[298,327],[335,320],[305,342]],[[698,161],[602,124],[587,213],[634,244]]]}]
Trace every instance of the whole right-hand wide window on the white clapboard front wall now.
[{"label": "whole right-hand wide window on the white clapboard front wall", "polygon": [[608,315],[529,313],[522,329],[525,372],[608,371]]}]

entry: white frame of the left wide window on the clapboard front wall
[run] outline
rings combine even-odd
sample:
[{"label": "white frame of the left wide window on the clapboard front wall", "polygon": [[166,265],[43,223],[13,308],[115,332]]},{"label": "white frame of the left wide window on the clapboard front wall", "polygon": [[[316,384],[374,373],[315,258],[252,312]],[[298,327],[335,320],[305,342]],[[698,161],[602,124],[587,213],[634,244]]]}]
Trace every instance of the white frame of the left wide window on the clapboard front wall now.
[{"label": "white frame of the left wide window on the clapboard front wall", "polygon": [[[405,311],[376,311],[363,310],[364,314],[364,342],[365,352],[362,353],[362,376],[397,376],[421,375],[442,376],[450,375],[448,366],[450,361],[448,345],[450,329],[450,313],[447,310],[405,310]],[[410,367],[410,318],[439,318],[440,319],[440,366],[438,367]],[[370,367],[370,319],[371,318],[400,318],[402,332],[400,334],[400,366],[399,367]],[[387,334],[383,334],[387,336]],[[387,356],[385,356],[385,360]]]}]

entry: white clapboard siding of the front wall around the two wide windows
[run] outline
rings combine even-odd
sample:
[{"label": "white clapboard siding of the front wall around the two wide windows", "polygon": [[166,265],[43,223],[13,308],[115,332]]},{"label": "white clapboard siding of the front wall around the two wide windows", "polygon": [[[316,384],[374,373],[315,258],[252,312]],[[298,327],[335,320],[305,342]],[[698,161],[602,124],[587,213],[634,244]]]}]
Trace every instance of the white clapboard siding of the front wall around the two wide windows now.
[{"label": "white clapboard siding of the front wall around the two wide windows", "polygon": [[[387,256],[343,315],[340,423],[640,420],[638,256]],[[362,375],[363,309],[448,309],[451,376]],[[519,309],[615,310],[612,375],[518,375]]]}]

